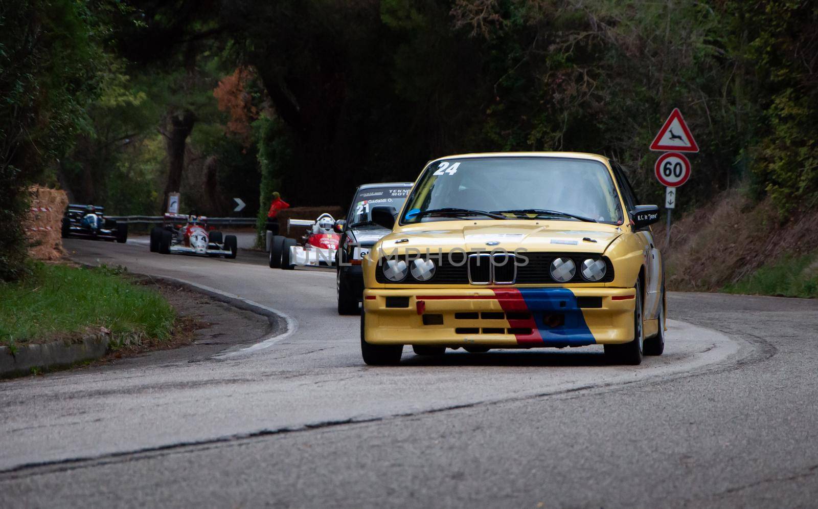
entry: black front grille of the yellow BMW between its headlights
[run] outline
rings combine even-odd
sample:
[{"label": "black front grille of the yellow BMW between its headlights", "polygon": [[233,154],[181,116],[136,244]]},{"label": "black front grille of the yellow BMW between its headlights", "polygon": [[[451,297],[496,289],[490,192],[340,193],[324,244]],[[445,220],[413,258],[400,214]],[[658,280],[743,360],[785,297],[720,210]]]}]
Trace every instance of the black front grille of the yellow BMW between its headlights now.
[{"label": "black front grille of the yellow BMW between its headlights", "polygon": [[[480,266],[477,266],[477,260],[475,259],[474,266],[471,267],[472,281],[475,282],[474,284],[487,285],[488,281],[490,280],[491,261],[488,259],[488,253],[483,253],[482,255],[485,256],[480,257]],[[582,278],[582,273],[579,268],[582,267],[582,260],[596,256],[599,255],[592,253],[533,253],[521,251],[516,256],[516,264],[512,264],[511,267],[508,267],[509,264],[495,267],[495,280],[499,281],[500,277],[510,277],[506,271],[510,271],[512,268],[515,268],[516,274],[515,278],[513,279],[515,284],[537,285],[555,283],[554,279],[551,278],[551,272],[549,270],[551,268],[551,262],[554,261],[555,258],[567,257],[573,259],[573,263],[577,266],[577,272],[574,274],[571,281],[563,284],[587,283],[587,281]],[[472,261],[471,258],[469,260],[466,259],[466,254],[464,252],[455,251],[451,254],[444,253],[440,257],[434,255],[432,259],[434,259],[435,264],[437,264],[434,277],[429,279],[429,281],[417,281],[414,277],[411,277],[410,273],[407,275],[406,279],[402,281],[402,283],[407,285],[470,284],[469,268]],[[613,264],[611,264],[610,260],[605,256],[603,256],[602,259],[605,260],[607,272],[605,273],[605,277],[598,282],[612,282]],[[385,259],[381,260],[381,265],[384,263],[384,260]],[[497,264],[497,262],[495,263]],[[381,265],[375,269],[375,280],[379,283],[395,284],[394,282],[390,282],[388,279],[386,279],[383,270],[381,269]],[[474,277],[477,277],[477,279],[474,279]]]}]

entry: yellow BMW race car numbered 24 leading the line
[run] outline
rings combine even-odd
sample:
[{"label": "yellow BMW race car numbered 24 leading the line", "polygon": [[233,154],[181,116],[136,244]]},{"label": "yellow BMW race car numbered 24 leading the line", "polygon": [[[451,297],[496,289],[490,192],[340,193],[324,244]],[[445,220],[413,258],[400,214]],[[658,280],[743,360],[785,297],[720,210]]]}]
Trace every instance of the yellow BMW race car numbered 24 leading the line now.
[{"label": "yellow BMW race car numbered 24 leading the line", "polygon": [[614,362],[662,354],[662,256],[622,168],[601,155],[515,152],[430,161],[392,232],[363,259],[367,364],[447,348],[605,345]]}]

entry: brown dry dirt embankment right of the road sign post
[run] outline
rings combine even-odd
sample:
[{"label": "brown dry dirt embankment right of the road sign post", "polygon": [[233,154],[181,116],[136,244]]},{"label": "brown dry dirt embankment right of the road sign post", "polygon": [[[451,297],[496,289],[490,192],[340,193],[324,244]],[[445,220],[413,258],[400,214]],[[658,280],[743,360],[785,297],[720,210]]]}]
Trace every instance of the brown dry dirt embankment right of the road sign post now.
[{"label": "brown dry dirt embankment right of the road sign post", "polygon": [[785,255],[818,250],[818,210],[780,218],[770,200],[753,203],[739,191],[717,196],[673,223],[671,245],[664,223],[654,236],[667,264],[667,288],[716,291]]}]

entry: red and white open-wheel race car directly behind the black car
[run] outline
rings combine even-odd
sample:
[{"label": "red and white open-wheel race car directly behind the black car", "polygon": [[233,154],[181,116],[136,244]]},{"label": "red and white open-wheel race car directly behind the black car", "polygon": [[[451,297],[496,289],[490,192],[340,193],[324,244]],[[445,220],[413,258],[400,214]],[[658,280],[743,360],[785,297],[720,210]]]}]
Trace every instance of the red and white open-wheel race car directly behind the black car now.
[{"label": "red and white open-wheel race car directly behind the black car", "polygon": [[335,218],[321,214],[315,221],[288,219],[290,227],[305,227],[301,245],[295,239],[275,235],[270,243],[270,268],[292,269],[301,267],[332,267],[341,236],[336,230]]}]

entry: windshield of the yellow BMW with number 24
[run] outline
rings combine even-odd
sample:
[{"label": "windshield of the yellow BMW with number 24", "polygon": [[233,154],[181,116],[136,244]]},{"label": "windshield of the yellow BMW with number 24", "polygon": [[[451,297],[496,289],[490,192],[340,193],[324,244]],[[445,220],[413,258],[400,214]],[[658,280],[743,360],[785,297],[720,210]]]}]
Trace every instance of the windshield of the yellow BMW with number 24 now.
[{"label": "windshield of the yellow BMW with number 24", "polygon": [[553,218],[622,224],[605,164],[559,157],[474,157],[434,161],[410,197],[402,223]]}]

